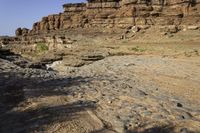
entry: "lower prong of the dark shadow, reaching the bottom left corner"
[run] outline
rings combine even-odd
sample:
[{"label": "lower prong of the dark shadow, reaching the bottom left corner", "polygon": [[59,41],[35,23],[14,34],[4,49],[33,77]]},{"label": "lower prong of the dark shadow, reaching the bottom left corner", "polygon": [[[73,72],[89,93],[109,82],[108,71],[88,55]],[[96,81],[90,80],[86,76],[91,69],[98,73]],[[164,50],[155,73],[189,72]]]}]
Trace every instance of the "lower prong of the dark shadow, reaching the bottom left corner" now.
[{"label": "lower prong of the dark shadow, reaching the bottom left corner", "polygon": [[[10,111],[0,116],[0,132],[37,132],[45,131],[46,126],[70,122],[78,119],[79,112],[93,110],[96,104],[92,101],[74,102],[67,105],[41,107],[22,112]],[[4,121],[3,121],[4,120]]]}]

